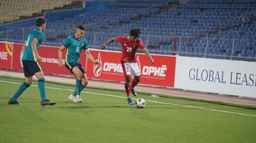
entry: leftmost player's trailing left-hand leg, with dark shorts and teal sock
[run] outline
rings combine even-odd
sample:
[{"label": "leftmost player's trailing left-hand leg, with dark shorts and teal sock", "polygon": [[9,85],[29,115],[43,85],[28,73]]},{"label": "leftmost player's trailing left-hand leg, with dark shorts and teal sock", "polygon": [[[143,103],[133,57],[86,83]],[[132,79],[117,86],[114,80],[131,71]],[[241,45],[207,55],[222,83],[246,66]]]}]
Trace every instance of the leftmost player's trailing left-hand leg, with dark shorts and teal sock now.
[{"label": "leftmost player's trailing left-hand leg, with dark shorts and teal sock", "polygon": [[25,81],[23,82],[23,84],[21,84],[21,86],[19,86],[16,93],[14,93],[14,96],[12,96],[11,99],[8,101],[9,104],[21,105],[21,103],[18,103],[17,98],[19,96],[21,96],[23,91],[25,91],[26,88],[28,88],[32,84],[33,74],[31,74],[31,72],[29,71],[26,62],[22,62],[22,64],[23,64],[23,71],[24,71]]}]

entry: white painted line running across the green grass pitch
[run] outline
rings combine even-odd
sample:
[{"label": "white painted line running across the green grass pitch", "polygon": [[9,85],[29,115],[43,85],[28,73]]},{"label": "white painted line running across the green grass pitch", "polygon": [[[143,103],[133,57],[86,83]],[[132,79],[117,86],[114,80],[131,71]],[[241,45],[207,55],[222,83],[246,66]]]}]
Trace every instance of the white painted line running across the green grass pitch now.
[{"label": "white painted line running across the green grass pitch", "polygon": [[[11,81],[0,81],[3,83],[8,83],[8,84],[21,84],[21,83],[16,83],[16,82],[11,82]],[[35,86],[35,85],[31,85],[31,86]],[[38,87],[38,86],[35,86]],[[47,87],[46,88],[50,88],[50,89],[55,89],[55,90],[61,90],[61,91],[74,91],[74,89],[65,89],[65,88],[53,88],[53,87]],[[82,91],[82,93],[89,93],[92,95],[99,95],[99,96],[109,96],[109,97],[115,97],[115,98],[127,98],[127,97],[123,97],[123,96],[113,96],[113,95],[109,95],[109,94],[102,94],[102,93],[92,93],[92,92],[85,92]],[[134,98],[137,99],[137,98]],[[230,114],[236,114],[236,115],[246,115],[246,116],[252,116],[252,117],[256,117],[256,115],[251,115],[251,114],[245,114],[245,113],[235,113],[235,112],[230,112],[230,111],[226,111],[226,110],[216,110],[216,109],[210,109],[210,108],[201,108],[201,107],[196,107],[196,106],[192,106],[192,105],[182,105],[182,104],[175,104],[175,103],[164,103],[164,102],[159,102],[159,101],[150,101],[150,100],[145,100],[145,101],[149,101],[151,103],[159,103],[159,104],[165,104],[165,105],[176,105],[176,106],[181,106],[181,107],[186,107],[186,108],[196,108],[196,109],[201,109],[201,110],[210,110],[210,111],[215,111],[215,112],[220,112],[220,113],[230,113]]]}]

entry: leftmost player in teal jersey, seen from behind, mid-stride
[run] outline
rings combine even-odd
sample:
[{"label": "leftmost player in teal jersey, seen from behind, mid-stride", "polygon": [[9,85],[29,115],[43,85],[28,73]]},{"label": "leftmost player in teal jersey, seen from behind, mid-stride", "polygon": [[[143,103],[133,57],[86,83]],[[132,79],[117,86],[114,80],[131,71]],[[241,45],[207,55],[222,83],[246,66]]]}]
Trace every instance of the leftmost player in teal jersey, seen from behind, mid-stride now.
[{"label": "leftmost player in teal jersey, seen from behind, mid-stride", "polygon": [[43,32],[46,29],[46,22],[47,21],[45,18],[37,18],[36,29],[29,33],[22,46],[23,57],[21,60],[23,64],[25,81],[18,88],[18,91],[16,91],[14,96],[8,101],[9,104],[21,105],[21,103],[18,103],[17,98],[21,96],[21,93],[23,93],[26,88],[31,86],[33,75],[35,75],[38,79],[38,88],[41,94],[41,105],[55,105],[55,102],[49,101],[46,98],[46,79],[43,76],[43,71],[39,63],[41,62],[42,58],[38,55],[38,48],[43,42]]}]

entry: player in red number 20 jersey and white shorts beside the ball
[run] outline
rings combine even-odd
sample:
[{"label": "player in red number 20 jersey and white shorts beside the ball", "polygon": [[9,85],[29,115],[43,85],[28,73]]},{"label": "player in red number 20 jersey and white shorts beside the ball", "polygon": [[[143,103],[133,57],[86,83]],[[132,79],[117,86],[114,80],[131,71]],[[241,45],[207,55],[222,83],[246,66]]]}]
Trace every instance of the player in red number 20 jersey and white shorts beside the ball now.
[{"label": "player in red number 20 jersey and white shorts beside the ball", "polygon": [[[142,40],[139,39],[140,33],[141,31],[138,28],[133,28],[132,30],[130,30],[129,36],[110,38],[109,40],[103,42],[102,45],[100,45],[100,49],[102,50],[104,50],[106,45],[110,42],[119,42],[122,45],[121,64],[125,77],[124,88],[127,93],[127,101],[129,105],[134,104],[130,96],[130,91],[132,91],[132,94],[134,96],[137,96],[137,92],[135,91],[134,87],[137,86],[141,79],[136,56],[138,47],[142,49],[146,57],[149,57],[151,64],[154,64],[154,60],[152,59],[149,52],[146,50],[146,47],[143,45]],[[131,75],[134,76],[134,79],[132,80],[132,85],[130,77]]]}]

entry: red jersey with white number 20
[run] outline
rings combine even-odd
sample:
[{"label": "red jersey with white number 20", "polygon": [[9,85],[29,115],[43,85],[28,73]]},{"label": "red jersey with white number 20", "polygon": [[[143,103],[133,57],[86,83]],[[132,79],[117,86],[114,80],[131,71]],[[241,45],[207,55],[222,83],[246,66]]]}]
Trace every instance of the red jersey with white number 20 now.
[{"label": "red jersey with white number 20", "polygon": [[134,42],[129,41],[129,36],[121,36],[116,38],[117,42],[120,42],[122,45],[122,59],[121,62],[137,62],[136,51],[138,47],[144,49],[145,46],[142,43],[142,40],[137,38]]}]

